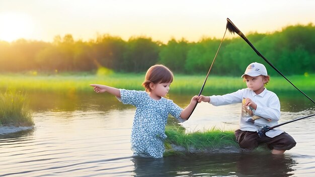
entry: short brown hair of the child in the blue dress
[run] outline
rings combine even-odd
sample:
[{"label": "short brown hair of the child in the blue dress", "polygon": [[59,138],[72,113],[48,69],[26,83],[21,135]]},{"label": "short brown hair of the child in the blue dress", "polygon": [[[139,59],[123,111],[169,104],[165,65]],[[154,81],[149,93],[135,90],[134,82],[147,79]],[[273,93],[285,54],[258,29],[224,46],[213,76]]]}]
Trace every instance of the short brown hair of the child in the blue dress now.
[{"label": "short brown hair of the child in the blue dress", "polygon": [[172,71],[164,65],[153,65],[151,66],[145,74],[142,86],[145,88],[146,92],[150,92],[150,83],[171,83],[173,82]]}]

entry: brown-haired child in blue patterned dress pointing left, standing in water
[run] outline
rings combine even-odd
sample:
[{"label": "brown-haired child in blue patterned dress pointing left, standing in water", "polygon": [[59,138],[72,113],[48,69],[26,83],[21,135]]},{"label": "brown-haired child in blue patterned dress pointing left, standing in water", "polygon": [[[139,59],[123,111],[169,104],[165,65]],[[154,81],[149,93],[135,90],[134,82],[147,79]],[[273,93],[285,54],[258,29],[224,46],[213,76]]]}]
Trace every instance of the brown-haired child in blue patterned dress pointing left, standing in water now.
[{"label": "brown-haired child in blue patterned dress pointing left, standing in water", "polygon": [[115,95],[123,104],[132,104],[136,107],[131,131],[131,150],[134,156],[163,157],[168,115],[171,114],[183,122],[192,112],[198,96],[194,96],[185,109],[180,108],[172,100],[164,98],[172,82],[173,73],[169,68],[154,65],[145,74],[142,83],[145,91],[91,84],[96,93],[108,92]]}]

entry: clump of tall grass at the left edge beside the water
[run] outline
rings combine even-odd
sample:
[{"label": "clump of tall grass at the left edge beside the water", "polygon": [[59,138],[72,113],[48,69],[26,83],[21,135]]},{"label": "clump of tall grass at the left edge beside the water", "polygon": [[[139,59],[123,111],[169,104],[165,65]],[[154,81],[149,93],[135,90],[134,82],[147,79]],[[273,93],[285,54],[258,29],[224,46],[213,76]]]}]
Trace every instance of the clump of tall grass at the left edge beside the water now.
[{"label": "clump of tall grass at the left edge beside the water", "polygon": [[0,94],[0,125],[34,125],[33,114],[28,107],[26,94],[17,91]]}]

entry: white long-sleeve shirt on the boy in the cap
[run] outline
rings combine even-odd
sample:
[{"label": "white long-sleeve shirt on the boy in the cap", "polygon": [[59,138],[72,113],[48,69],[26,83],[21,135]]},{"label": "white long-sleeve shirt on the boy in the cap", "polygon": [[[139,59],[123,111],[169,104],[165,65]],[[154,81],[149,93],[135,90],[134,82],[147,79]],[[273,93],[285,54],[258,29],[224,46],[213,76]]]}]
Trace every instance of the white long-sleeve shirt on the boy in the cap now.
[{"label": "white long-sleeve shirt on the boy in the cap", "polygon": [[[272,127],[278,124],[278,120],[280,119],[280,101],[275,93],[267,90],[266,88],[259,95],[257,95],[253,90],[249,88],[238,90],[236,92],[225,95],[213,95],[210,96],[209,103],[214,106],[220,106],[234,103],[242,103],[242,100],[246,98],[250,98],[253,102],[257,104],[256,110],[253,110],[254,115],[261,116],[263,118],[256,119],[254,124],[250,123],[247,120],[252,118],[252,116],[248,114],[244,109],[242,109],[240,119],[241,130],[259,131],[264,125]],[[270,121],[266,119],[269,119]],[[274,128],[266,132],[266,135],[269,137],[275,137],[282,132],[282,130]]]}]

